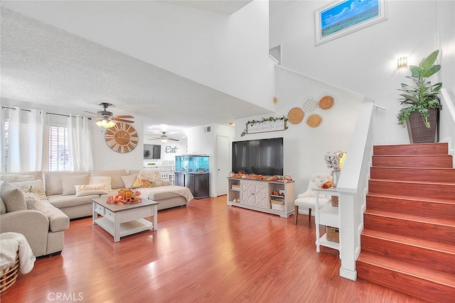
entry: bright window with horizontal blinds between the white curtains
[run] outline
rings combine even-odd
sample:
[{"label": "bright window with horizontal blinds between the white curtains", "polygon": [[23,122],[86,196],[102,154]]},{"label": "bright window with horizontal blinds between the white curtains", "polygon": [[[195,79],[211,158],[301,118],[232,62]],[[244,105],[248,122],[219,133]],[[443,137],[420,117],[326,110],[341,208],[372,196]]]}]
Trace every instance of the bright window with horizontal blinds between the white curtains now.
[{"label": "bright window with horizontal blinds between the white curtains", "polygon": [[49,126],[48,170],[70,170],[70,168],[68,128],[66,126]]}]

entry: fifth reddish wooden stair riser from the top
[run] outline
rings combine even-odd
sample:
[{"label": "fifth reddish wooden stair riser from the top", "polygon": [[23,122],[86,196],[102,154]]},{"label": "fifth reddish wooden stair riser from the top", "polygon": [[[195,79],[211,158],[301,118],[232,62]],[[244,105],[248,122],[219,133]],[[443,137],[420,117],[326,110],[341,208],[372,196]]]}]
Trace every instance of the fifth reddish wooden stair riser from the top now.
[{"label": "fifth reddish wooden stair riser from the top", "polygon": [[454,204],[439,202],[424,202],[410,199],[390,197],[375,197],[367,194],[367,209],[393,211],[397,214],[427,216],[430,218],[453,220],[455,218]]}]

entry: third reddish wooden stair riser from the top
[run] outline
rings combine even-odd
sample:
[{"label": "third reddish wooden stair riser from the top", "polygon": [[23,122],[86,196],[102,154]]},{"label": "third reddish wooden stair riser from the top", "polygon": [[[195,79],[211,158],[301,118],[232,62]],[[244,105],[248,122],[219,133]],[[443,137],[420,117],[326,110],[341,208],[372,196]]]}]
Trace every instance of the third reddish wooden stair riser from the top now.
[{"label": "third reddish wooden stair riser from the top", "polygon": [[414,182],[454,182],[453,168],[414,168],[414,167],[371,167],[370,178],[378,180],[399,180]]}]

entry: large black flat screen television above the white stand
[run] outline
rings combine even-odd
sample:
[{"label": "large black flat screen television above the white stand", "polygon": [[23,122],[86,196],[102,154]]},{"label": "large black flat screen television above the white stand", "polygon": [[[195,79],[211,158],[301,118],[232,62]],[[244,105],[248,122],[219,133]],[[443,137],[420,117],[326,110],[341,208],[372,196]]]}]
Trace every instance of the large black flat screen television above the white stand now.
[{"label": "large black flat screen television above the white stand", "polygon": [[232,142],[232,172],[283,175],[283,138]]}]

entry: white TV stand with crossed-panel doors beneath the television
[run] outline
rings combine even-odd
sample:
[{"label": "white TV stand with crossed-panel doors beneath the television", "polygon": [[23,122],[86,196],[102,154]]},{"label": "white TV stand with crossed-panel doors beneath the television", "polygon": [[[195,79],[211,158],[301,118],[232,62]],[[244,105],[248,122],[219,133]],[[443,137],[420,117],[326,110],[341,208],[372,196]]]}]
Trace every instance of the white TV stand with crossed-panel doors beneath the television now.
[{"label": "white TV stand with crossed-panel doors beneath the television", "polygon": [[[294,184],[294,181],[228,178],[228,205],[288,218],[294,214]],[[284,195],[274,195],[274,191],[281,191]]]}]

